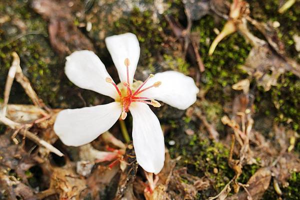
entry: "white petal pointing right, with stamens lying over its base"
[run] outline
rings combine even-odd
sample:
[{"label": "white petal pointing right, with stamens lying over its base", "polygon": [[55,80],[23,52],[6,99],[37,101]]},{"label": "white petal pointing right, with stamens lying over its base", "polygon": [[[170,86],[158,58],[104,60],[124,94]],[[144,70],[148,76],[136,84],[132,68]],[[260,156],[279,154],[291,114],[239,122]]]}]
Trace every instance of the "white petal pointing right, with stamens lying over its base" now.
[{"label": "white petal pointing right, with stamens lying over its base", "polygon": [[188,108],[196,101],[199,89],[191,77],[175,71],[157,73],[148,80],[143,88],[157,81],[161,81],[160,86],[150,88],[140,93],[139,96],[163,101],[181,110]]}]

